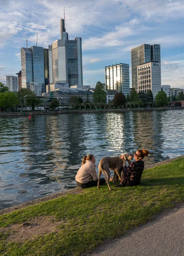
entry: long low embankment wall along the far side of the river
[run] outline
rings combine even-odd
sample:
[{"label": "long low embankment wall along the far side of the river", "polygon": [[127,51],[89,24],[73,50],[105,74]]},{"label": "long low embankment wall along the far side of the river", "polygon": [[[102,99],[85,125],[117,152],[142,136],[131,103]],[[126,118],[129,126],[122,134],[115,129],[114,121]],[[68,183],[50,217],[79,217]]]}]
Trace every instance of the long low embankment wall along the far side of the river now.
[{"label": "long low embankment wall along the far side of the river", "polygon": [[51,115],[51,114],[74,114],[74,113],[114,113],[129,111],[163,111],[184,108],[113,108],[113,109],[87,109],[87,110],[63,110],[63,111],[25,111],[25,112],[1,112],[0,116],[27,116],[27,115]]}]

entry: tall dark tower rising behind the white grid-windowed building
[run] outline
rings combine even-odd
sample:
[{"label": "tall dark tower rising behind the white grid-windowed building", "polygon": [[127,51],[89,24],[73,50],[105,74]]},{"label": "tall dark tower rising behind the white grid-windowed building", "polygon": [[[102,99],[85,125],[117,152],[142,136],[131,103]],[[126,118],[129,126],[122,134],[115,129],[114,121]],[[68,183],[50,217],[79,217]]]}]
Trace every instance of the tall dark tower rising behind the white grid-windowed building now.
[{"label": "tall dark tower rising behind the white grid-windowed building", "polygon": [[137,66],[150,61],[160,63],[160,44],[142,44],[139,47],[131,49],[132,87],[135,90],[138,89]]}]

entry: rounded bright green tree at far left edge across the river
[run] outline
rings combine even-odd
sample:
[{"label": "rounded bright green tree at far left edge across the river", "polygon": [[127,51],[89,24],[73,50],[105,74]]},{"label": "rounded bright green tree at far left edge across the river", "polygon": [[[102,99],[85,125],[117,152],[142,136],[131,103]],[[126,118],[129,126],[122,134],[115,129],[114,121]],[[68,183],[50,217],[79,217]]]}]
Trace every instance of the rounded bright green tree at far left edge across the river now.
[{"label": "rounded bright green tree at far left edge across the river", "polygon": [[[18,97],[14,92],[0,93],[0,107],[3,109],[17,107],[19,103]],[[14,107],[14,108],[16,108]]]}]

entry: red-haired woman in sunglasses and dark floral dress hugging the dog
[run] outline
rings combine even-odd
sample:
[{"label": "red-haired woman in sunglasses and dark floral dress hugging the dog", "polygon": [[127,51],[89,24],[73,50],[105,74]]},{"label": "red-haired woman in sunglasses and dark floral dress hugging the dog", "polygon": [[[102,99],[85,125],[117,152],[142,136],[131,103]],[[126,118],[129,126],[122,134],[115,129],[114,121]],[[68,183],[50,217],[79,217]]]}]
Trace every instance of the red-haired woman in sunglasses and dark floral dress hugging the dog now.
[{"label": "red-haired woman in sunglasses and dark floral dress hugging the dog", "polygon": [[122,170],[122,179],[119,185],[121,186],[133,186],[141,182],[142,172],[144,170],[144,157],[147,157],[150,152],[147,149],[139,149],[135,152],[134,158],[136,161],[129,163],[129,166],[126,166],[125,160],[123,160],[123,170]]}]

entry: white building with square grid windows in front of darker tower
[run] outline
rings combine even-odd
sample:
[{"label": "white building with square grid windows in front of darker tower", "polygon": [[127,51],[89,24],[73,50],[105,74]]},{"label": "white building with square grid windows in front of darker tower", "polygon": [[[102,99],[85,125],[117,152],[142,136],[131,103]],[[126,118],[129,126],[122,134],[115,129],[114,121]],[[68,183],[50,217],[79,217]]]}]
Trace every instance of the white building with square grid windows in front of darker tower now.
[{"label": "white building with square grid windows in front of darker tower", "polygon": [[147,93],[151,90],[153,100],[156,94],[161,91],[161,67],[159,62],[147,62],[137,66],[137,93]]}]

